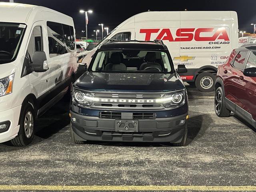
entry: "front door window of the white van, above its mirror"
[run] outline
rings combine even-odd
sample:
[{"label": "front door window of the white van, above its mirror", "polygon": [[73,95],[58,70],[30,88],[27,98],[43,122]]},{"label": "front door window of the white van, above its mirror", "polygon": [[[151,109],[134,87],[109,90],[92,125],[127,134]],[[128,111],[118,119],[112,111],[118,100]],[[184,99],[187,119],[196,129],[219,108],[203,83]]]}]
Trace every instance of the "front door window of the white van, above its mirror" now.
[{"label": "front door window of the white van, above its mirror", "polygon": [[42,27],[41,26],[36,26],[34,27],[30,41],[28,43],[28,50],[27,50],[27,55],[32,62],[33,60],[33,55],[35,51],[43,51],[43,43],[42,43]]}]

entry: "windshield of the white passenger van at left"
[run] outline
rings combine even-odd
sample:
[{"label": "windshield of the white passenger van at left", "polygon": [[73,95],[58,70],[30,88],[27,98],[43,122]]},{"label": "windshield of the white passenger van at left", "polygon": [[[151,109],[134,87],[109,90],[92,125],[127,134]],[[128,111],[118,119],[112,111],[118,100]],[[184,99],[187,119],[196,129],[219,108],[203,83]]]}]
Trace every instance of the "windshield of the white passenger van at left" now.
[{"label": "windshield of the white passenger van at left", "polygon": [[16,59],[26,25],[0,22],[0,64]]}]

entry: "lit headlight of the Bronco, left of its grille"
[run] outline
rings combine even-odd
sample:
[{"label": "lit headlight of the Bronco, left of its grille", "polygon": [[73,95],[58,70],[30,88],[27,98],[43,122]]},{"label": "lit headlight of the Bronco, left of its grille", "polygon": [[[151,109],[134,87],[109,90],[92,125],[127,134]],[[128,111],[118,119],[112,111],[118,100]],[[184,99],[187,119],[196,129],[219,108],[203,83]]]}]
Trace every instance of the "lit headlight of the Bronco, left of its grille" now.
[{"label": "lit headlight of the Bronco, left of its grille", "polygon": [[76,103],[83,106],[91,106],[92,102],[99,101],[99,98],[95,98],[91,93],[81,90],[74,91],[73,99]]}]

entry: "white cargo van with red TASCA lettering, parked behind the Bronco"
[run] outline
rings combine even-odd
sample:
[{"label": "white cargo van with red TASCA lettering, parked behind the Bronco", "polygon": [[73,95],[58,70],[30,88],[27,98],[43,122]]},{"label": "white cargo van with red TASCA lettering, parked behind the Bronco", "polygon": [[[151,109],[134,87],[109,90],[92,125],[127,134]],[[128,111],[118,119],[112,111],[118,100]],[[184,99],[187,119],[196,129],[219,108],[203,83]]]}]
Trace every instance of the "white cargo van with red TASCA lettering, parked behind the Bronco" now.
[{"label": "white cargo van with red TASCA lettering, parked behind the Bronco", "polygon": [[[238,46],[238,19],[234,11],[143,12],[117,26],[102,42],[116,40],[163,40],[180,74],[203,92],[214,90],[217,67]],[[82,63],[90,63],[94,51]]]}]

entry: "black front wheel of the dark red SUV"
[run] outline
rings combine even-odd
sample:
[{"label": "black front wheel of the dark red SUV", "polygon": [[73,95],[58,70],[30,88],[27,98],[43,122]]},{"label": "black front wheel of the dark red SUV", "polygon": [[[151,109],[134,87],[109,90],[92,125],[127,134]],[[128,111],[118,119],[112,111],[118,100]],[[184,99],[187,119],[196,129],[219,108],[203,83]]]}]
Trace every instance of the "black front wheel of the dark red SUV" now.
[{"label": "black front wheel of the dark red SUV", "polygon": [[231,111],[226,108],[225,96],[222,87],[219,87],[215,92],[214,108],[215,113],[219,117],[229,117]]}]

